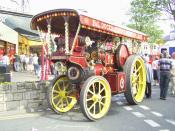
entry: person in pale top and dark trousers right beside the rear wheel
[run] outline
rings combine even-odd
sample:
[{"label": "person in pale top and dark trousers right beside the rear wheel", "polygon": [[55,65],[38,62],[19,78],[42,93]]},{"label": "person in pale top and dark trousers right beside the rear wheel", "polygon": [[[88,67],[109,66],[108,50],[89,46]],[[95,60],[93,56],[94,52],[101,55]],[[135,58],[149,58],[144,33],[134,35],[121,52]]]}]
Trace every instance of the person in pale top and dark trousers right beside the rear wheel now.
[{"label": "person in pale top and dark trousers right beside the rear wheel", "polygon": [[152,94],[151,83],[153,81],[153,70],[152,70],[151,64],[149,63],[149,59],[145,60],[145,67],[146,67],[146,90],[145,90],[145,95],[146,95],[146,98],[151,98],[151,94]]}]

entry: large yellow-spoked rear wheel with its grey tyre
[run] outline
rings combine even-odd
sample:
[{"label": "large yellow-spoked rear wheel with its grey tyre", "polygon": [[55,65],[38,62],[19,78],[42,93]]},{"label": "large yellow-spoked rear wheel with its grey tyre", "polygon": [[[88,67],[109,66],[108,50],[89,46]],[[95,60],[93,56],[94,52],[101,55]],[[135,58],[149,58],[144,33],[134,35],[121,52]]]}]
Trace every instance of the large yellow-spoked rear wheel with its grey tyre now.
[{"label": "large yellow-spoked rear wheel with its grey tyre", "polygon": [[138,55],[130,56],[124,65],[126,73],[125,97],[130,104],[142,102],[146,89],[146,68],[143,59]]}]

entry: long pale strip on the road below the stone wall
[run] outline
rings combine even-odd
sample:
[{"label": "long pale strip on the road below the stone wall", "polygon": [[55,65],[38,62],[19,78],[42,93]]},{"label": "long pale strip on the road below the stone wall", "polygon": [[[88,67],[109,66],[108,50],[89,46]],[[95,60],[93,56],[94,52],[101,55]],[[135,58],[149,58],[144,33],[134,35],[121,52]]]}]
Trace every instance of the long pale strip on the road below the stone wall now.
[{"label": "long pale strip on the road below the stone wall", "polygon": [[10,120],[10,119],[19,119],[19,118],[26,118],[26,117],[38,117],[41,114],[22,114],[22,115],[12,115],[12,116],[2,116],[0,120]]}]

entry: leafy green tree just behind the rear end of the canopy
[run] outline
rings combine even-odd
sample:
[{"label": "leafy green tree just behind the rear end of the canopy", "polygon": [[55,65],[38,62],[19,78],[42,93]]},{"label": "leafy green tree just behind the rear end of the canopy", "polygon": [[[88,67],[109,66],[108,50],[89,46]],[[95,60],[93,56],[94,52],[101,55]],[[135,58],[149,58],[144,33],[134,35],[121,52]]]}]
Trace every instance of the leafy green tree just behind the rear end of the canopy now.
[{"label": "leafy green tree just behind the rear end of the canopy", "polygon": [[133,0],[131,2],[131,23],[128,25],[149,35],[149,42],[154,43],[160,39],[163,31],[156,25],[160,10],[155,8],[156,3],[152,0]]}]

